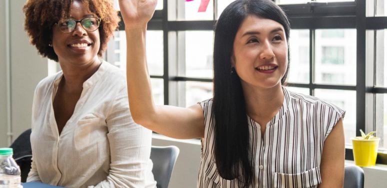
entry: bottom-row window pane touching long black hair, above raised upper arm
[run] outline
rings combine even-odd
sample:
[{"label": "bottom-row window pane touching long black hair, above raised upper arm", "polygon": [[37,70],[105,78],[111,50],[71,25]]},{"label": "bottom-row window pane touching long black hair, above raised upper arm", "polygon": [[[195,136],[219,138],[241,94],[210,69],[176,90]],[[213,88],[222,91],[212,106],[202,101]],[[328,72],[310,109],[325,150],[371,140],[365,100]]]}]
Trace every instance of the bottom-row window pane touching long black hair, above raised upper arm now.
[{"label": "bottom-row window pane touching long black hair, above raised upper arm", "polygon": [[185,106],[212,97],[212,82],[185,81]]}]

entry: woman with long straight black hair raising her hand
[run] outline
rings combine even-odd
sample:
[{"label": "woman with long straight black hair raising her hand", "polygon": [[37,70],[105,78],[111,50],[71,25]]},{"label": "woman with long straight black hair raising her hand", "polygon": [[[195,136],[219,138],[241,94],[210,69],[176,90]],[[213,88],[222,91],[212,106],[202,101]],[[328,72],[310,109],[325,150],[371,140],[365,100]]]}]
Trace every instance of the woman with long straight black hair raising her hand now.
[{"label": "woman with long straight black hair raising her hand", "polygon": [[155,3],[119,0],[130,111],[158,133],[201,138],[197,187],[342,187],[344,111],[282,86],[290,26],[279,6],[236,0],[224,9],[215,27],[214,96],[181,108],[152,100],[145,32]]}]

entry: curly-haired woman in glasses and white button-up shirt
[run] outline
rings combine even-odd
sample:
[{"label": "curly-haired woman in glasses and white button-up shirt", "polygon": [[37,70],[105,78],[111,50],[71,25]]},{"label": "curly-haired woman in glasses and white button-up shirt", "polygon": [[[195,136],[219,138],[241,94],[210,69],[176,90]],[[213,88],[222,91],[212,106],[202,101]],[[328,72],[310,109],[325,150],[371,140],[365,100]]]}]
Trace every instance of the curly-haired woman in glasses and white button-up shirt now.
[{"label": "curly-haired woman in glasses and white button-up shirt", "polygon": [[109,0],[27,0],[25,30],[62,71],[32,104],[27,181],[65,187],[155,187],[151,131],[129,111],[125,74],[102,60],[119,17]]}]

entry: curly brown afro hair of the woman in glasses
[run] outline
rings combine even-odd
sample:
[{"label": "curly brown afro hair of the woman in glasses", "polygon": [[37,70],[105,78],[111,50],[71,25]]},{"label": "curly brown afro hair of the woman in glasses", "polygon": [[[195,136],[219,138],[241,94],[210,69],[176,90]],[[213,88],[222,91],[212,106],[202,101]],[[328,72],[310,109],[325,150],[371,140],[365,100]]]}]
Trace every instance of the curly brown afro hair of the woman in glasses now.
[{"label": "curly brown afro hair of the woman in glasses", "polygon": [[[58,56],[52,46],[52,26],[63,17],[68,17],[70,5],[74,0],[27,0],[24,4],[24,29],[29,41],[35,45],[38,52],[52,60],[58,61]],[[118,11],[114,9],[112,0],[76,0],[85,3],[96,16],[101,18],[99,24],[100,46],[98,56],[106,50],[107,41],[118,27]]]}]

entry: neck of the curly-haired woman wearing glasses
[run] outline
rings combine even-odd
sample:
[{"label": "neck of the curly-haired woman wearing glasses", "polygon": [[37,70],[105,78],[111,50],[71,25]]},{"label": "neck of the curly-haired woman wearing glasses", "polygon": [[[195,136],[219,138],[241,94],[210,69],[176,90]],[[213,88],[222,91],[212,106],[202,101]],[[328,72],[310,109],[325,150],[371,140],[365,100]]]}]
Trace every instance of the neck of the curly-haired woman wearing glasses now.
[{"label": "neck of the curly-haired woman wearing glasses", "polygon": [[61,80],[65,90],[77,92],[83,88],[83,82],[86,81],[99,68],[100,60],[92,59],[87,63],[65,63],[59,61],[63,71]]}]

